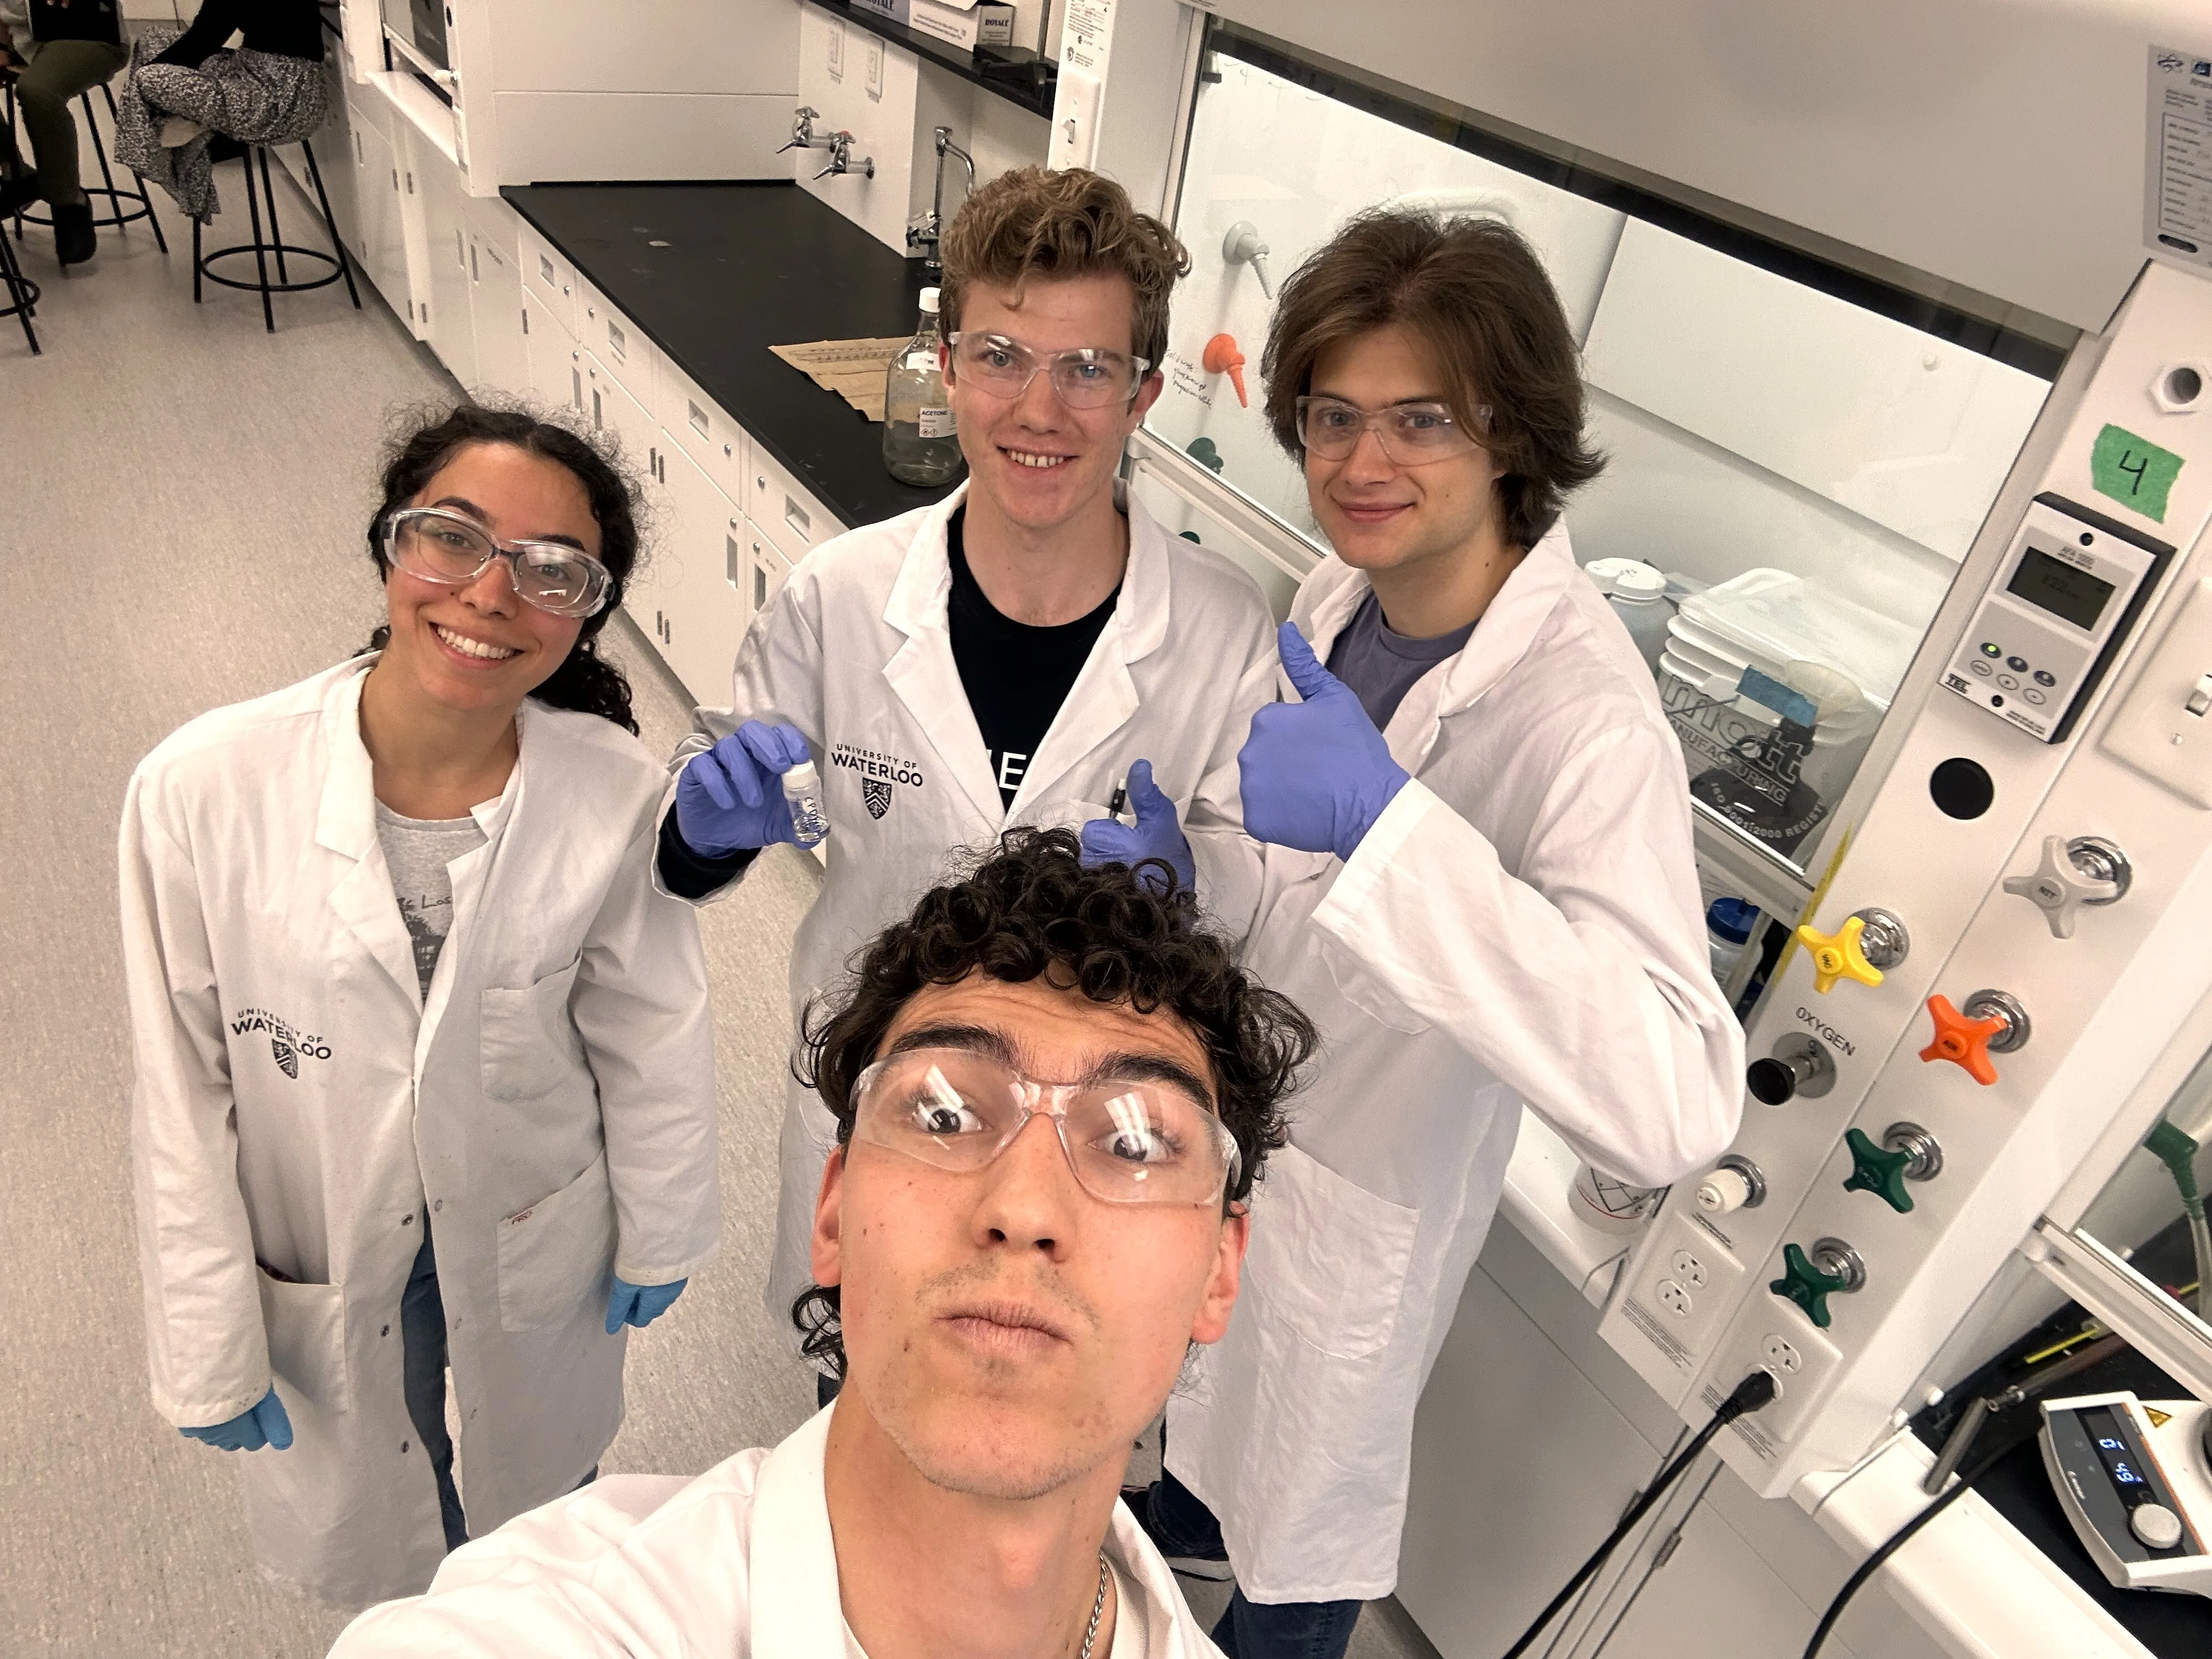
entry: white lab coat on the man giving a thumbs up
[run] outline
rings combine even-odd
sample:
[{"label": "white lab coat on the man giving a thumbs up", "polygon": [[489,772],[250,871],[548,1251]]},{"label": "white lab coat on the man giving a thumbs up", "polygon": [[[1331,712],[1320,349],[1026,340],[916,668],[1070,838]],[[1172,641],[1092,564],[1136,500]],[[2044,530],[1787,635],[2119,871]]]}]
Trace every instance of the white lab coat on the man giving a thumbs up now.
[{"label": "white lab coat on the man giving a thumbs up", "polygon": [[[1334,557],[1305,577],[1292,619],[1323,661],[1367,591]],[[1259,1183],[1230,1332],[1168,1402],[1168,1467],[1254,1601],[1396,1584],[1413,1407],[1522,1102],[1650,1186],[1741,1113],[1681,750],[1564,526],[1385,737],[1413,781],[1349,863],[1267,847],[1245,960],[1325,1048]]]}]

